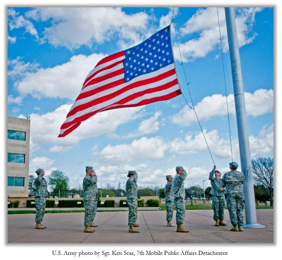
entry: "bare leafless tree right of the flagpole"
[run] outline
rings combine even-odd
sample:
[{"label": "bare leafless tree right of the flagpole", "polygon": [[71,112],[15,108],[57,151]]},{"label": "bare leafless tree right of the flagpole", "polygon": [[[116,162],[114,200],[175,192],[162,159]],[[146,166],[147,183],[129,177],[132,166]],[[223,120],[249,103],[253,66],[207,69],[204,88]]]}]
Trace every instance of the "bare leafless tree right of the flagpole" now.
[{"label": "bare leafless tree right of the flagpole", "polygon": [[273,158],[258,157],[252,159],[253,179],[269,190],[270,206],[273,206]]}]

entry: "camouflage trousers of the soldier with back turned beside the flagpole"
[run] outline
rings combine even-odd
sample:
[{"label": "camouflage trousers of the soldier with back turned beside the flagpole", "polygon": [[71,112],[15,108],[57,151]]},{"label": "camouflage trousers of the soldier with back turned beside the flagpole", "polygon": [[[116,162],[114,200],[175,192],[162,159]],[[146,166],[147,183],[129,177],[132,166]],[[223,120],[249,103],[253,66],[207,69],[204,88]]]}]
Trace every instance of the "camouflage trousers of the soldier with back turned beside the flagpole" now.
[{"label": "camouflage trousers of the soldier with back turned beside the flagpole", "polygon": [[244,225],[244,193],[227,194],[227,208],[229,211],[230,222],[233,226]]}]

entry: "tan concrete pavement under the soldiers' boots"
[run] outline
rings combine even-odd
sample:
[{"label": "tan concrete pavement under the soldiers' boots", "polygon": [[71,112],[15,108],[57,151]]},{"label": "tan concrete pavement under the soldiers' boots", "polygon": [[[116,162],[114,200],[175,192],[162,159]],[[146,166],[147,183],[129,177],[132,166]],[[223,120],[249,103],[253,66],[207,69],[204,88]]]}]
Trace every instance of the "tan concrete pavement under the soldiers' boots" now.
[{"label": "tan concrete pavement under the soldiers' boots", "polygon": [[[231,232],[228,210],[227,226],[215,227],[212,210],[186,210],[184,228],[166,227],[166,211],[138,208],[140,233],[128,232],[128,211],[97,212],[93,233],[84,233],[84,213],[46,213],[42,221],[47,228],[35,229],[35,214],[7,215],[7,244],[11,243],[274,243],[273,209],[258,209],[257,222],[265,228],[244,228]],[[20,210],[20,209],[19,209]],[[49,210],[49,209],[47,209]],[[126,208],[122,208],[126,210]],[[245,215],[244,215],[245,220]],[[175,212],[172,223],[175,223]]]}]

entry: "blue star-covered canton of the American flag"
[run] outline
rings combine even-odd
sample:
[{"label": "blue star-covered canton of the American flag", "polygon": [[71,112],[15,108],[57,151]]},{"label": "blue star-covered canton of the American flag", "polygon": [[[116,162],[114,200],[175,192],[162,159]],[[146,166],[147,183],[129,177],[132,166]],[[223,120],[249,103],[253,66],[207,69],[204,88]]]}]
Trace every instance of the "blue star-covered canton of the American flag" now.
[{"label": "blue star-covered canton of the American flag", "polygon": [[124,50],[124,81],[161,69],[173,63],[170,26],[137,46]]}]

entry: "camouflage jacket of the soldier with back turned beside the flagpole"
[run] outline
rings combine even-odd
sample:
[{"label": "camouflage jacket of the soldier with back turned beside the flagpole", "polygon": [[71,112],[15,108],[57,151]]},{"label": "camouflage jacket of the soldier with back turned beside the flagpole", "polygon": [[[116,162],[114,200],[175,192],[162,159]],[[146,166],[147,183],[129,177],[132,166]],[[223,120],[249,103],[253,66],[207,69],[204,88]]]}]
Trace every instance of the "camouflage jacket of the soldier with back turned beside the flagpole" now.
[{"label": "camouflage jacket of the soldier with back turned beside the flagpole", "polygon": [[243,192],[243,183],[245,182],[245,176],[239,171],[230,171],[224,173],[222,177],[222,183],[226,194]]}]

